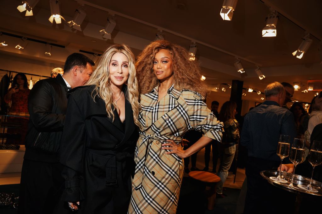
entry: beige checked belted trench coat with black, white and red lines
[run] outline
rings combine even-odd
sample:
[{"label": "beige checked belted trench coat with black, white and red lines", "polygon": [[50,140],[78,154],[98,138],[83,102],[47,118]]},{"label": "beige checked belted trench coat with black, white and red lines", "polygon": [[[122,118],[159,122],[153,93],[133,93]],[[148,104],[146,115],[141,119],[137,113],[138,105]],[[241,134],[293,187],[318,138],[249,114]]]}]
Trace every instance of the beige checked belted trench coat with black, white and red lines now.
[{"label": "beige checked belted trench coat with black, white and red lines", "polygon": [[183,160],[167,155],[162,143],[179,143],[195,129],[208,138],[221,141],[223,123],[202,101],[200,94],[176,90],[172,85],[159,102],[158,87],[141,94],[140,138],[135,150],[136,169],[128,213],[175,213],[184,172]]}]

